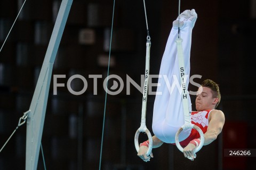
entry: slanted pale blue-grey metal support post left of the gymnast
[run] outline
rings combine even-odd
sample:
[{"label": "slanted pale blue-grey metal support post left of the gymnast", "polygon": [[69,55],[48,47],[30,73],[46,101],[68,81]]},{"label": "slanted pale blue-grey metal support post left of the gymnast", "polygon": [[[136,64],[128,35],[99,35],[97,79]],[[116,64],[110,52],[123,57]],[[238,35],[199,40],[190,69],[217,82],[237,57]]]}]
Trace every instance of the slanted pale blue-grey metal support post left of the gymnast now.
[{"label": "slanted pale blue-grey metal support post left of the gymnast", "polygon": [[62,0],[27,118],[26,170],[37,169],[53,63],[73,0]]}]

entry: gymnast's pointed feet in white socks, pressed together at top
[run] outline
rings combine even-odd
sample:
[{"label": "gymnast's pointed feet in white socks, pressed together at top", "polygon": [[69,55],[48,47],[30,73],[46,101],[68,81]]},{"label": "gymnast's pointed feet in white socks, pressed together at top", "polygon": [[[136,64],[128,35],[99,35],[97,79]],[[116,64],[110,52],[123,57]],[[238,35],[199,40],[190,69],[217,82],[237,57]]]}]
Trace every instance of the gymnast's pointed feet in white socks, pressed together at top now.
[{"label": "gymnast's pointed feet in white socks, pressed together at top", "polygon": [[[190,20],[191,26],[193,28],[195,26],[196,19],[197,19],[197,13],[194,9],[191,11],[185,10],[180,14],[180,16],[175,21],[173,21],[173,27],[175,28],[182,27],[185,21]],[[180,21],[180,24],[179,24],[179,21]]]}]

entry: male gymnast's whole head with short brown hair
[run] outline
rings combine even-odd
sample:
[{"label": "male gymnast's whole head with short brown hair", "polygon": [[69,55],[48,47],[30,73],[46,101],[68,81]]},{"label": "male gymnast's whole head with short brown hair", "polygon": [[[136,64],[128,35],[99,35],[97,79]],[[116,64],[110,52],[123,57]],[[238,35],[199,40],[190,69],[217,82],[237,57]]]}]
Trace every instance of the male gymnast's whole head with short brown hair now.
[{"label": "male gymnast's whole head with short brown hair", "polygon": [[198,88],[196,96],[196,110],[211,110],[217,108],[220,103],[219,85],[213,80],[206,79]]}]

